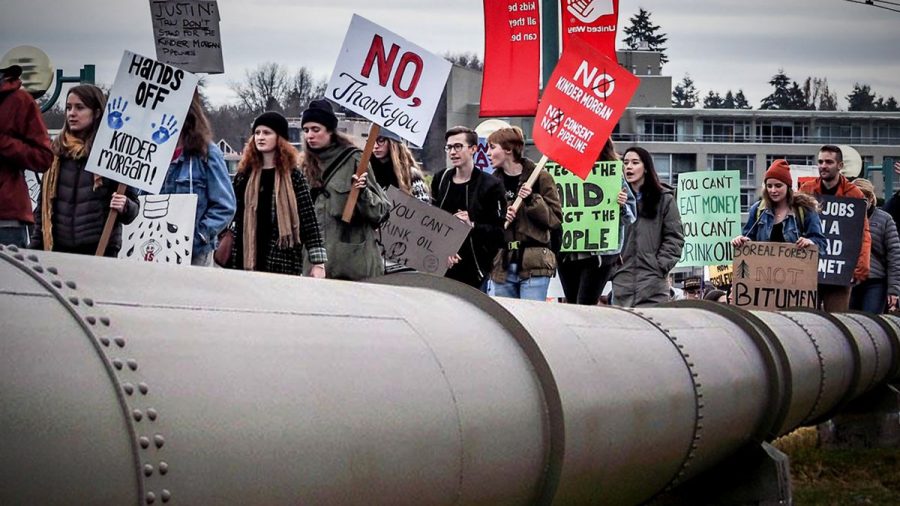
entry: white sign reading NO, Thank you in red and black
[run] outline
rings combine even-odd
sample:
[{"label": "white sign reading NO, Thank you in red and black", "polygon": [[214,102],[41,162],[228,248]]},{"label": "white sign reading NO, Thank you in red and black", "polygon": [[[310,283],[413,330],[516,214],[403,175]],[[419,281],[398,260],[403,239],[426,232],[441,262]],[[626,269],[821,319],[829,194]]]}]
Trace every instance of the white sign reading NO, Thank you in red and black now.
[{"label": "white sign reading NO, Thank you in red and black", "polygon": [[354,14],[325,96],[422,146],[451,66]]}]

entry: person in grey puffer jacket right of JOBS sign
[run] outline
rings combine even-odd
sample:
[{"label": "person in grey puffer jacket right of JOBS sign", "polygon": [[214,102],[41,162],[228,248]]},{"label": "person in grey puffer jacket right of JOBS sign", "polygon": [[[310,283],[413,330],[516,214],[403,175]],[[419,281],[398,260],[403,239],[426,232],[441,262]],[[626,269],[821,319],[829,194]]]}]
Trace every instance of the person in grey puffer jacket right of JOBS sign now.
[{"label": "person in grey puffer jacket right of JOBS sign", "polygon": [[891,215],[876,207],[875,187],[866,179],[854,179],[868,203],[869,232],[872,236],[869,277],[850,292],[850,309],[883,313],[897,306],[900,295],[900,236]]}]

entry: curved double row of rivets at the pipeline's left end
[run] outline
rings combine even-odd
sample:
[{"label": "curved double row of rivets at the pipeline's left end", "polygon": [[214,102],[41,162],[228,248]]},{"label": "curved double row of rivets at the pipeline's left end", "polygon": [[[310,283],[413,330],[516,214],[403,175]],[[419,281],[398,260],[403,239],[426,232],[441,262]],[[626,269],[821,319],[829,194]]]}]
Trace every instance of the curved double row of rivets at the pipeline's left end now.
[{"label": "curved double row of rivets at the pipeline's left end", "polygon": [[[22,253],[19,253],[18,248],[15,246],[2,246],[0,245],[0,251],[9,251],[13,253],[13,257],[24,263],[26,256]],[[124,393],[121,396],[121,400],[124,403],[124,407],[127,409],[127,413],[129,418],[133,421],[132,423],[140,423],[141,425],[146,425],[146,422],[141,423],[145,420],[149,422],[155,422],[159,418],[159,413],[154,408],[141,408],[134,405],[131,405],[132,399],[137,400],[134,397],[135,391],[140,392],[141,396],[146,396],[150,392],[150,387],[144,381],[135,381],[138,378],[135,378],[134,375],[138,370],[138,362],[134,358],[124,358],[124,357],[111,357],[108,353],[112,350],[121,351],[125,348],[126,339],[122,335],[97,335],[98,331],[105,331],[106,328],[112,326],[112,321],[108,316],[97,315],[97,314],[84,314],[84,311],[93,310],[95,302],[94,299],[89,297],[79,297],[78,295],[72,293],[73,291],[78,289],[78,284],[72,280],[66,279],[47,279],[51,276],[59,276],[59,269],[53,266],[44,267],[39,265],[40,258],[35,254],[29,254],[27,259],[31,262],[34,262],[35,265],[30,265],[30,271],[34,273],[45,276],[44,282],[48,283],[49,287],[56,289],[56,296],[60,300],[63,305],[66,305],[70,312],[79,318],[82,321],[82,326],[86,329],[87,335],[99,343],[97,346],[97,350],[100,351],[101,357],[106,361],[108,366],[110,367],[112,379],[116,382],[116,384],[121,389],[121,392]],[[98,325],[99,324],[99,325]],[[102,329],[102,330],[101,330]],[[95,333],[96,332],[96,333]],[[107,331],[108,332],[108,331]],[[115,344],[115,347],[112,345]],[[136,386],[135,386],[136,385]],[[145,397],[140,397],[142,401],[146,400]],[[150,485],[148,484],[146,479],[155,479],[154,476],[164,476],[169,471],[169,465],[164,460],[159,460],[159,457],[163,456],[162,454],[158,454],[156,452],[162,451],[163,447],[166,444],[165,437],[163,434],[159,432],[154,432],[152,438],[144,435],[138,436],[137,426],[132,426],[134,428],[136,441],[136,449],[141,454],[138,456],[140,461],[143,461],[142,464],[139,464],[137,468],[138,476],[141,479],[141,493],[143,493],[144,503],[145,504],[154,504],[157,499],[162,500],[164,503],[168,503],[172,500],[172,492],[169,489],[161,488],[159,492],[155,492],[152,490],[148,490]],[[148,428],[145,426],[145,428]],[[143,452],[154,452],[154,453],[143,453]],[[155,457],[155,458],[154,458]],[[156,465],[151,464],[150,460],[157,462]]]}]

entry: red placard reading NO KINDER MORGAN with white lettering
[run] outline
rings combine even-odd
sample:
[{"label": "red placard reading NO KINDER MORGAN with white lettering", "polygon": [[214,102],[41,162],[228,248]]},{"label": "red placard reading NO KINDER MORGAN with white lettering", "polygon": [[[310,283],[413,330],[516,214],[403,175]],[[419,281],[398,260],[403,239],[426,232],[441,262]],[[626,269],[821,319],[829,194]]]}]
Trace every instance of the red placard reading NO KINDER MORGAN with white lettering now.
[{"label": "red placard reading NO KINDER MORGAN with white lettering", "polygon": [[638,84],[615,60],[572,40],[541,97],[531,134],[534,145],[586,178]]}]

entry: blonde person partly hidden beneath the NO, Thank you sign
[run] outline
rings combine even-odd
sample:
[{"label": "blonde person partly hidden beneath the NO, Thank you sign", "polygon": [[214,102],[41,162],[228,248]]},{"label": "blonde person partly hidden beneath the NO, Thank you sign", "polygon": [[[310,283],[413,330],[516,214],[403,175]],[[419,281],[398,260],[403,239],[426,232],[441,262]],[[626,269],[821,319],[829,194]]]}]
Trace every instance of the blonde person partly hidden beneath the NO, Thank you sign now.
[{"label": "blonde person partly hidden beneath the NO, Thank you sign", "polygon": [[375,139],[372,155],[372,172],[382,190],[387,191],[388,186],[393,186],[422,202],[431,202],[422,170],[397,134],[382,128]]}]

